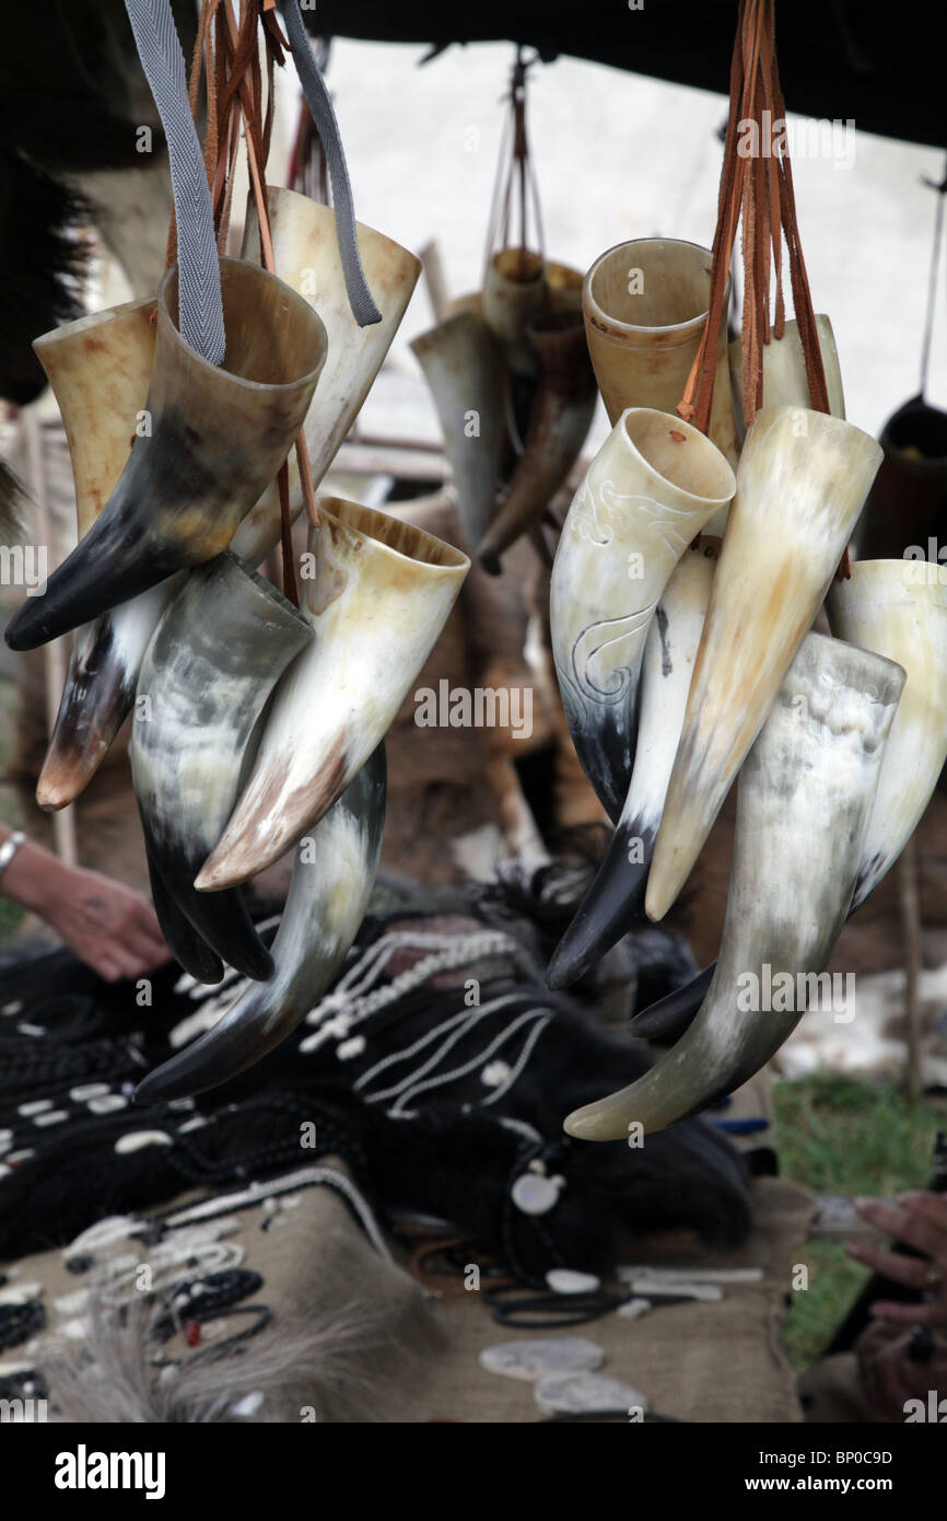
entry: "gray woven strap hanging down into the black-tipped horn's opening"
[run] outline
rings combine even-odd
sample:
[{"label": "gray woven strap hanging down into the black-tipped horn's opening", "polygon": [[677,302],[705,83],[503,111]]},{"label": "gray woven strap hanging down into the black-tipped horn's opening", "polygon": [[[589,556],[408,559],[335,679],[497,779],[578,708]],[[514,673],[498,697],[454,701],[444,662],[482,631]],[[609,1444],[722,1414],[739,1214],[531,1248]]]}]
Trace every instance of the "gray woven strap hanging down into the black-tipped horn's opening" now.
[{"label": "gray woven strap hanging down into the black-tipped horn's opening", "polygon": [[125,0],[135,47],[167,138],[178,221],[181,336],[213,365],[223,364],[223,300],[214,208],[187,99],[184,53],[170,0]]}]

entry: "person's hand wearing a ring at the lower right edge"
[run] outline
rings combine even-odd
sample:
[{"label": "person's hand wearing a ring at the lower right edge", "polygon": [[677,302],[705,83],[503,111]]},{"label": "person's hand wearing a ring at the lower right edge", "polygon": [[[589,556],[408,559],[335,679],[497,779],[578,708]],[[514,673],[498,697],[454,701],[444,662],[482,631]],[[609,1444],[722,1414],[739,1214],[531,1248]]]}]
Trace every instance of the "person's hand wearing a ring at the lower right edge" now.
[{"label": "person's hand wearing a ring at the lower right edge", "polygon": [[904,1241],[923,1256],[904,1256],[862,1241],[848,1243],[850,1256],[895,1284],[929,1294],[920,1305],[880,1299],[871,1307],[871,1314],[901,1325],[947,1326],[947,1196],[918,1191],[900,1194],[894,1203],[859,1199],[857,1211],[880,1232]]}]

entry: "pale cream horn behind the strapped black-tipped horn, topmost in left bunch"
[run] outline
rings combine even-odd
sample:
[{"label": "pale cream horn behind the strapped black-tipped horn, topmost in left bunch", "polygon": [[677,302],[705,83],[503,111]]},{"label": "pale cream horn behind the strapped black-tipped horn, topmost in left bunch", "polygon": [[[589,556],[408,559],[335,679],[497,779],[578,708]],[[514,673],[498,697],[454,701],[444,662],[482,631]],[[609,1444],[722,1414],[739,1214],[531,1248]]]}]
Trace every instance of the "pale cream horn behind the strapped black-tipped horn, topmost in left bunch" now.
[{"label": "pale cream horn behind the strapped black-tipped horn, topmost in left bunch", "polygon": [[[277,275],[318,312],[325,327],[325,364],[304,423],[309,465],[318,488],[398,332],[421,274],[421,260],[394,239],[356,222],[362,268],[382,312],[380,322],[359,327],[345,289],[333,208],[278,186],[266,187],[266,202]],[[243,259],[260,262],[260,221],[252,196]],[[290,517],[299,516],[302,502],[293,452],[289,456]],[[231,549],[248,564],[260,564],[280,541],[280,493],[272,482],[240,523]]]}]

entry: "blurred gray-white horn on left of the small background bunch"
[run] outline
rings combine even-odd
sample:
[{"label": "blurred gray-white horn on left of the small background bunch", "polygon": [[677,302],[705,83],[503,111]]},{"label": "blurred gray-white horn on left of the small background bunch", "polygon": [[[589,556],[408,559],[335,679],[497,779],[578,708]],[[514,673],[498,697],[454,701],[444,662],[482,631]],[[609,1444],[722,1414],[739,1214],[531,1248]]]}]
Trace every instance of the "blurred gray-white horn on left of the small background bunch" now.
[{"label": "blurred gray-white horn on left of the small background bunch", "polygon": [[486,322],[458,312],[412,342],[441,421],[444,452],[458,488],[461,522],[480,541],[497,500],[506,438],[506,377]]}]

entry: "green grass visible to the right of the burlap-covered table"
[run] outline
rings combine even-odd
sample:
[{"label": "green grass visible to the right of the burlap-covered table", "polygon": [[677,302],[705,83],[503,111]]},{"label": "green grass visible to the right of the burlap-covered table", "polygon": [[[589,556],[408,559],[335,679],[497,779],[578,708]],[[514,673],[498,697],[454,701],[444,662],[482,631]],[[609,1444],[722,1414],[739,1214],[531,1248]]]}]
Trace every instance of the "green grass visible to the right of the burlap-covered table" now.
[{"label": "green grass visible to the right of the burlap-covered table", "polygon": [[[923,1186],[947,1101],[909,1104],[888,1083],[821,1074],[775,1086],[775,1144],[784,1177],[818,1194],[897,1194]],[[793,1367],[824,1351],[868,1273],[844,1244],[809,1241],[800,1253],[809,1291],[792,1294],[783,1345]]]}]

